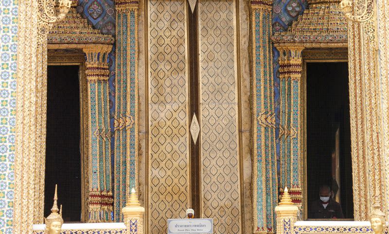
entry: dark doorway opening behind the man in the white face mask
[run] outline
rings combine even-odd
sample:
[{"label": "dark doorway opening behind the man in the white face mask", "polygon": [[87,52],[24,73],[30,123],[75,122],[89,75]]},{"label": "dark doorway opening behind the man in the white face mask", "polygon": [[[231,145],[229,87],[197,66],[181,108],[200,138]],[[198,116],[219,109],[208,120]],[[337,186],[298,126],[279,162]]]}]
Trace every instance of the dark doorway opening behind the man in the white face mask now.
[{"label": "dark doorway opening behind the man in the white face mask", "polygon": [[318,211],[326,203],[319,196],[322,185],[330,188],[330,202],[339,203],[344,218],[353,218],[348,66],[307,63],[306,71],[308,218],[323,218],[320,212],[330,213],[325,218],[340,216],[335,203]]}]

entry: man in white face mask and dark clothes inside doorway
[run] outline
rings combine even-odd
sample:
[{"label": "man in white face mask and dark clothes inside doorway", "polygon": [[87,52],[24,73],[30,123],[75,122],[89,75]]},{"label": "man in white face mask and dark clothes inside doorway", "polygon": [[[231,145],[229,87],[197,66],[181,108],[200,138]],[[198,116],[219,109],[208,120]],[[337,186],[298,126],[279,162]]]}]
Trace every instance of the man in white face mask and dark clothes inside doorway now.
[{"label": "man in white face mask and dark clothes inside doorway", "polygon": [[329,186],[320,187],[320,200],[312,203],[309,218],[344,218],[340,204],[330,198],[331,189]]}]

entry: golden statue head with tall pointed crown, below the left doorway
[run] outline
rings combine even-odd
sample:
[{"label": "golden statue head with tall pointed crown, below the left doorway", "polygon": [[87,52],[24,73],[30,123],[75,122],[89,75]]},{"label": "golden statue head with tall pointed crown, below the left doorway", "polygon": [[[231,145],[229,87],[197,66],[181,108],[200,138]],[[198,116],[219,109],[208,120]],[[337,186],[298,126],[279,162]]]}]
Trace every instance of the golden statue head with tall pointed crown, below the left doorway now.
[{"label": "golden statue head with tall pointed crown, below the left doorway", "polygon": [[[54,192],[54,203],[52,208],[52,213],[45,218],[45,224],[46,224],[46,234],[60,234],[61,233],[61,227],[64,223],[64,220],[62,219],[62,205],[61,208],[58,210],[57,205],[57,185],[55,184],[55,192]],[[59,213],[58,213],[59,211]]]}]

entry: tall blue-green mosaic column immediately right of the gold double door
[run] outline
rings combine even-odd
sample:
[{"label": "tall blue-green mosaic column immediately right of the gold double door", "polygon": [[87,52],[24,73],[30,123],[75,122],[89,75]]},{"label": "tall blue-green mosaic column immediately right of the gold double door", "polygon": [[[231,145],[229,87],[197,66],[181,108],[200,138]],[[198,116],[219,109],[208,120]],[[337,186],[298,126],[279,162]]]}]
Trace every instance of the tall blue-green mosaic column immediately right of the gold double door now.
[{"label": "tall blue-green mosaic column immediately right of the gold double door", "polygon": [[272,75],[271,1],[251,1],[253,74],[252,132],[254,233],[274,233],[278,201]]}]

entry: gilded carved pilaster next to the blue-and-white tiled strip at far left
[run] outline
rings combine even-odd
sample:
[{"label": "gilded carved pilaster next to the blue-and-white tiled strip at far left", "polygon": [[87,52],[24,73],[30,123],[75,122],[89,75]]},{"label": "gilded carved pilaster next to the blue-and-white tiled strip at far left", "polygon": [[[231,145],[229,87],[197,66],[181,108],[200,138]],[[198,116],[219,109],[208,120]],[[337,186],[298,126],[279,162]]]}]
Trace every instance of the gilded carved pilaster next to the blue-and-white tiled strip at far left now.
[{"label": "gilded carved pilaster next to the blue-and-white tiled strip at far left", "polygon": [[[18,87],[15,157],[14,232],[32,230],[35,210],[35,86],[38,47],[36,1],[19,3],[18,14]],[[22,10],[21,10],[22,9]],[[34,48],[34,49],[31,49]],[[41,55],[39,55],[41,56]],[[33,101],[31,101],[33,100]],[[30,110],[23,114],[25,110]],[[23,118],[23,115],[26,117]],[[31,134],[24,134],[24,133]],[[22,179],[24,178],[24,180]],[[39,187],[39,182],[36,184]],[[43,213],[42,213],[43,221]]]}]

